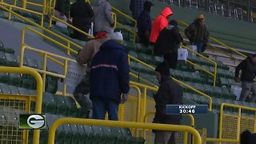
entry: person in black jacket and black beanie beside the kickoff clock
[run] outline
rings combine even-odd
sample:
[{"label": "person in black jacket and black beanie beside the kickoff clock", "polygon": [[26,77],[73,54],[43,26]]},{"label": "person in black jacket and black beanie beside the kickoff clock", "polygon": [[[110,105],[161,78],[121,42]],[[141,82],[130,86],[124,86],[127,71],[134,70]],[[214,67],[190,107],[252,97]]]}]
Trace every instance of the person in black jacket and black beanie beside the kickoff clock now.
[{"label": "person in black jacket and black beanie beside the kickoff clock", "polygon": [[[182,87],[170,78],[168,62],[162,62],[155,68],[156,78],[160,83],[157,94],[154,96],[156,113],[154,123],[179,125],[182,115],[166,114],[166,105],[182,104]],[[175,144],[175,132],[155,131],[154,143],[171,143]]]}]

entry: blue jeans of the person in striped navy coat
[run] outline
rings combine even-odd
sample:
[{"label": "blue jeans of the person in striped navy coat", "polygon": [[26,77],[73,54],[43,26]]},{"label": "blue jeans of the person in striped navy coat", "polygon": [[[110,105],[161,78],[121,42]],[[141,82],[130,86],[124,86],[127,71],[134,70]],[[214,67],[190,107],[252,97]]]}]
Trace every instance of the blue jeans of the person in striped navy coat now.
[{"label": "blue jeans of the person in striped navy coat", "polygon": [[118,103],[106,99],[95,98],[93,102],[93,119],[105,119],[109,114],[109,120],[118,121]]}]

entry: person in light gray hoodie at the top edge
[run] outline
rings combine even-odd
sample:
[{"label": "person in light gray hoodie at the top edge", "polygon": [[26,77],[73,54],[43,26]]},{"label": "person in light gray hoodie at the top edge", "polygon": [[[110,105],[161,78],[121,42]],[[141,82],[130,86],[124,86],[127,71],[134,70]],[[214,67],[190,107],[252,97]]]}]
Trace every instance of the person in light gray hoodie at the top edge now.
[{"label": "person in light gray hoodie at the top edge", "polygon": [[114,26],[114,20],[111,16],[111,5],[106,0],[98,0],[94,6],[94,34],[102,30],[102,27]]}]

